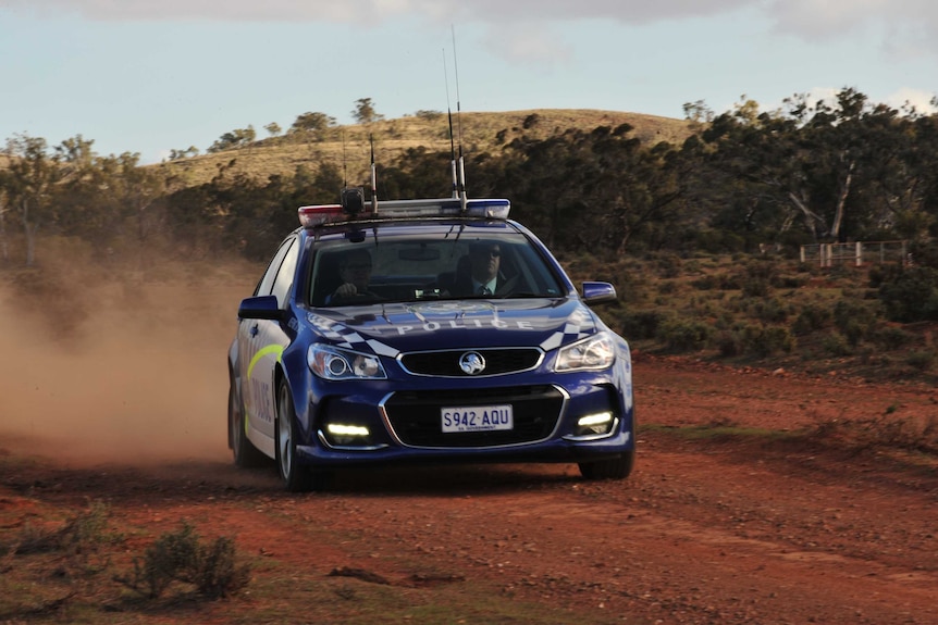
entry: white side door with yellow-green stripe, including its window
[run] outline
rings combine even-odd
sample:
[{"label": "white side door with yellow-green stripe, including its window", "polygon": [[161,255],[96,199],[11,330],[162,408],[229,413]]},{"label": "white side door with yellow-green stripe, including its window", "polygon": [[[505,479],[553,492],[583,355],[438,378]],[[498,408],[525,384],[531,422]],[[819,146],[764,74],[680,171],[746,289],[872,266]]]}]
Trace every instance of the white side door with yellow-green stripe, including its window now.
[{"label": "white side door with yellow-green stripe, including its window", "polygon": [[[287,238],[274,254],[258,285],[255,296],[274,296],[277,305],[285,309],[289,301],[293,274],[296,270],[298,246],[296,237]],[[256,441],[266,448],[273,440],[276,414],[273,374],[286,346],[286,335],[277,320],[242,320],[238,324],[239,364],[245,411],[248,418],[248,438],[262,436]]]}]

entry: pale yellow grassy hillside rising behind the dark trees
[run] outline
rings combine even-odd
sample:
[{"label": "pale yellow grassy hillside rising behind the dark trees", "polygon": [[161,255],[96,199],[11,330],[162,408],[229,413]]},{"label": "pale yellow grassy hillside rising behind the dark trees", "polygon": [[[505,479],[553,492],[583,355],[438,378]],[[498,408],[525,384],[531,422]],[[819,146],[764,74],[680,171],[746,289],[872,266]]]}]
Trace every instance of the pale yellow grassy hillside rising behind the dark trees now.
[{"label": "pale yellow grassy hillside rising behind the dark trees", "polygon": [[[650,145],[659,141],[680,142],[689,135],[688,123],[669,117],[594,111],[587,109],[539,109],[505,113],[454,114],[454,132],[462,137],[464,153],[491,152],[499,145],[527,135],[543,139],[569,128],[590,130],[597,126],[628,123],[634,135]],[[298,166],[316,171],[322,163],[333,163],[347,171],[349,184],[365,184],[368,178],[371,147],[379,164],[390,164],[408,148],[423,146],[431,150],[449,150],[449,123],[445,113],[420,114],[384,120],[370,125],[341,126],[326,129],[322,136],[281,136],[262,139],[249,148],[225,150],[189,159],[162,163],[182,185],[198,185],[211,179],[219,166],[235,161],[234,171],[267,179],[274,174],[293,175]]]}]

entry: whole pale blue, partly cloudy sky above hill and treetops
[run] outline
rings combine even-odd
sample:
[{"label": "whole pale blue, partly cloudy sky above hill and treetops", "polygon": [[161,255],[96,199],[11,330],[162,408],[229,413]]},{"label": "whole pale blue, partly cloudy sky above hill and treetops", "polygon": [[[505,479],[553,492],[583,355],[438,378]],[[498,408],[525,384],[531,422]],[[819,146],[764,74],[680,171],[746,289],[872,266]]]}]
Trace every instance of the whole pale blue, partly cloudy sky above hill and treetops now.
[{"label": "whole pale blue, partly cloudy sky above hill and treetops", "polygon": [[775,110],[850,87],[933,112],[934,0],[0,0],[0,148],[201,152],[306,112]]}]

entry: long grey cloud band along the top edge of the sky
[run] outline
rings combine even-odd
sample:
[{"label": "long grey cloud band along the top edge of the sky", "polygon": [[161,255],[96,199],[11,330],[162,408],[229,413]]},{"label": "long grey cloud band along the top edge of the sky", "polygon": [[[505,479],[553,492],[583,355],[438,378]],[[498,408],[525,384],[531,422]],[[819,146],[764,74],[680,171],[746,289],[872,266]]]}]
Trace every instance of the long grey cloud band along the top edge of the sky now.
[{"label": "long grey cloud band along the top edge of the sky", "polygon": [[[78,14],[88,20],[269,21],[377,25],[394,18],[431,24],[471,22],[492,29],[516,28],[527,42],[502,48],[507,55],[532,55],[541,43],[521,26],[605,20],[642,25],[663,21],[727,15],[737,10],[762,13],[777,33],[824,41],[856,30],[869,32],[871,45],[897,55],[938,53],[938,2],[934,0],[2,0],[2,7],[39,15]],[[556,41],[556,39],[555,39]],[[524,51],[523,48],[528,48]],[[544,53],[540,59],[544,59]],[[563,55],[563,54],[559,54]]]}]

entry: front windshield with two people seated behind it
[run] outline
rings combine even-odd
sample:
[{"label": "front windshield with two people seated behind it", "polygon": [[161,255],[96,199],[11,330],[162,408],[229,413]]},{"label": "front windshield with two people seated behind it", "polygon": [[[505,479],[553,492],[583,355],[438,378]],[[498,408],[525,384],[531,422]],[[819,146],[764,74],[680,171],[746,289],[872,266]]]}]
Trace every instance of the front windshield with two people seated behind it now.
[{"label": "front windshield with two people seated behind it", "polygon": [[521,234],[370,233],[323,240],[310,271],[313,307],[469,298],[560,297],[557,276]]}]

